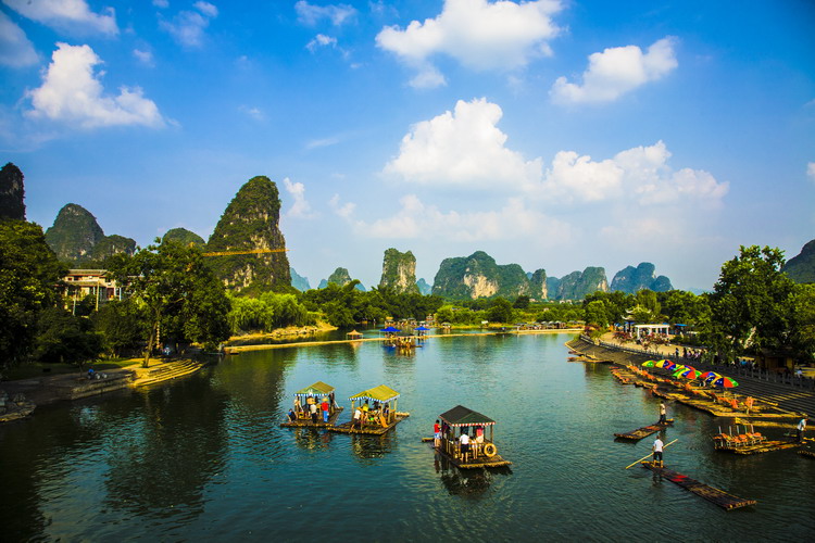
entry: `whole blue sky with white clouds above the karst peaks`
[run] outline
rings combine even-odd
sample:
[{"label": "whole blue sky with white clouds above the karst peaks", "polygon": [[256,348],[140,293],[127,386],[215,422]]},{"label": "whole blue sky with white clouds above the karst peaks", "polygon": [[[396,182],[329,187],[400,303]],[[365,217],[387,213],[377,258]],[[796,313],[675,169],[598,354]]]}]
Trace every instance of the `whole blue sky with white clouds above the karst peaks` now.
[{"label": "whole blue sky with white clouds above the karst peaks", "polygon": [[0,161],[29,220],[208,238],[266,175],[289,260],[386,249],[707,289],[815,238],[815,7],[0,0]]}]

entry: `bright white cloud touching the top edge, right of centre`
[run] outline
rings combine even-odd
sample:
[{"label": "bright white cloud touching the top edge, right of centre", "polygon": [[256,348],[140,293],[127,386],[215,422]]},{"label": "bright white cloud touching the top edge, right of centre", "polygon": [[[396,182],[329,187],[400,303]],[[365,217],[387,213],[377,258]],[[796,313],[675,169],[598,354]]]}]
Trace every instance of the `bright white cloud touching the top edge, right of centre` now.
[{"label": "bright white cloud touching the top edge, right of centre", "polygon": [[557,0],[446,0],[437,17],[383,28],[376,42],[419,72],[411,85],[438,86],[443,77],[430,61],[437,54],[476,71],[513,70],[551,54],[549,40],[560,33],[552,15],[561,9]]}]

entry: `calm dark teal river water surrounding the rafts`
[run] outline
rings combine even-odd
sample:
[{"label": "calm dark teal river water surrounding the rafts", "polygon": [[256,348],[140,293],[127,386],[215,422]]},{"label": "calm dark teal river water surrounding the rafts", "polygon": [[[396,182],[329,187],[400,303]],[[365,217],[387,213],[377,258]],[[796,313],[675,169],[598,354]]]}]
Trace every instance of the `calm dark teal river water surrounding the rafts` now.
[{"label": "calm dark teal river water surrounding the rafts", "polygon": [[[714,453],[719,422],[701,412],[669,405],[665,439],[679,441],[666,464],[757,506],[725,512],[623,469],[652,440],[613,432],[653,422],[659,400],[607,367],[567,363],[569,338],[246,353],[175,383],[39,409],[0,428],[0,540],[812,539],[815,462]],[[411,417],[381,438],[279,428],[291,394],[316,380],[338,401],[388,384]],[[456,404],[498,420],[512,470],[457,471],[421,443]]]}]

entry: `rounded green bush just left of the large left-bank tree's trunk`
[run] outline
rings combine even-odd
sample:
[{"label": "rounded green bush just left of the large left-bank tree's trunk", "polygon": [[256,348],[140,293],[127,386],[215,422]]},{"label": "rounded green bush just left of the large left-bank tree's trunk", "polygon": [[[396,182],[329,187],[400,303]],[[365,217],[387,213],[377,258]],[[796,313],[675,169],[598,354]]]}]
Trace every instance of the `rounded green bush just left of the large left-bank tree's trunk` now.
[{"label": "rounded green bush just left of the large left-bank tree's trunk", "polygon": [[113,300],[91,315],[103,349],[114,357],[134,353],[147,337],[148,319],[136,300]]}]

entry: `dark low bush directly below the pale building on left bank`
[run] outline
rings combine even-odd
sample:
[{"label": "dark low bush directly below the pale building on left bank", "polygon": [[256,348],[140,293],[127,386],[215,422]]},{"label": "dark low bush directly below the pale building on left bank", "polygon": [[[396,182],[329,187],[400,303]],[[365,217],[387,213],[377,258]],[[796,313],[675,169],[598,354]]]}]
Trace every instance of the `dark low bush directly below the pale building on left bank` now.
[{"label": "dark low bush directly below the pale building on left bank", "polygon": [[96,359],[102,338],[89,319],[75,317],[61,307],[42,311],[37,319],[34,358],[39,362],[78,364]]}]

